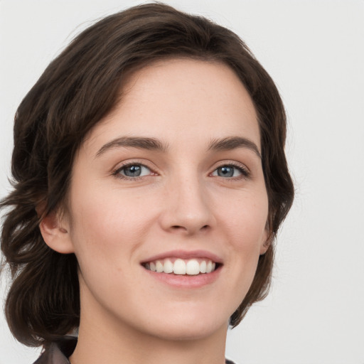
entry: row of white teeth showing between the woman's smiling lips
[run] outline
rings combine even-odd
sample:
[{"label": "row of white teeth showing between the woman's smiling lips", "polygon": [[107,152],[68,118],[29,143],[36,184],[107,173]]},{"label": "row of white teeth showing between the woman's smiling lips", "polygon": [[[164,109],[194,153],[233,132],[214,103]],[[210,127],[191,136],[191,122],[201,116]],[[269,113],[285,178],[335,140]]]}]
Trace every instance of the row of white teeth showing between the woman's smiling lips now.
[{"label": "row of white teeth showing between the woman's smiling lips", "polygon": [[143,263],[142,266],[156,273],[191,275],[214,272],[221,264],[210,259],[158,259],[153,262]]}]

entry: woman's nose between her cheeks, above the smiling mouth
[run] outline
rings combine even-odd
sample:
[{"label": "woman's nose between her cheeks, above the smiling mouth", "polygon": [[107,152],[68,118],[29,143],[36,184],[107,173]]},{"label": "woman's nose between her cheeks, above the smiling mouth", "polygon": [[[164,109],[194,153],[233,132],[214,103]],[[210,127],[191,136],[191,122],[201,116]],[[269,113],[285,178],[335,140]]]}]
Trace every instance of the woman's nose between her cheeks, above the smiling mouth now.
[{"label": "woman's nose between her cheeks, above the smiling mouth", "polygon": [[212,201],[198,177],[176,180],[166,188],[162,228],[168,232],[193,235],[215,225]]}]

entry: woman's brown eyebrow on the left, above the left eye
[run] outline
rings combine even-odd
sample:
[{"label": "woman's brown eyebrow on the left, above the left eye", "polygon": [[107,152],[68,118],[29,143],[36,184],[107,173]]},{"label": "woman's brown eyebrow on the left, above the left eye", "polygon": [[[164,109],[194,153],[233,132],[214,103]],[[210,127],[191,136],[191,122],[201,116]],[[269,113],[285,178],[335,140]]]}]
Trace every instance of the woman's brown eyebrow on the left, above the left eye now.
[{"label": "woman's brown eyebrow on the left, above the left eye", "polygon": [[144,137],[121,137],[109,141],[97,151],[96,156],[101,156],[109,149],[114,149],[120,146],[131,146],[132,148],[147,149],[153,151],[167,151],[168,145],[163,144],[159,139],[144,138]]}]

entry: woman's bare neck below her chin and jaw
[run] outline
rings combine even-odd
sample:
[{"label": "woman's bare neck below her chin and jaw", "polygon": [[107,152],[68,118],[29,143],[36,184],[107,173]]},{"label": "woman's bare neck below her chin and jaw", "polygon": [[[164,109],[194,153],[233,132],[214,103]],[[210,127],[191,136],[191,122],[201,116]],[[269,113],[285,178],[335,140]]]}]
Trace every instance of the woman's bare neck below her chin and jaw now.
[{"label": "woman's bare neck below her chin and jaw", "polygon": [[85,311],[82,314],[71,364],[225,363],[228,324],[199,338],[168,339],[143,333],[113,317],[100,316],[100,312],[92,316]]}]

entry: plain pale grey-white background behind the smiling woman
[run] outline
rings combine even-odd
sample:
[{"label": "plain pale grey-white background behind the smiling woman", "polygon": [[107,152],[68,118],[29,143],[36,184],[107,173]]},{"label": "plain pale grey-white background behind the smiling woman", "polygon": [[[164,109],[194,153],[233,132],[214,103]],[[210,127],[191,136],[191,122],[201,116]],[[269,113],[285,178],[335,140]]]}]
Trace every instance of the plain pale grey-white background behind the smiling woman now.
[{"label": "plain pale grey-white background behind the smiling woman", "polygon": [[[289,116],[296,200],[277,241],[272,292],[229,332],[228,357],[363,364],[364,1],[166,2],[238,33],[277,82]],[[22,97],[75,33],[139,3],[0,0],[0,197]],[[37,356],[11,338],[1,315],[0,364]]]}]

